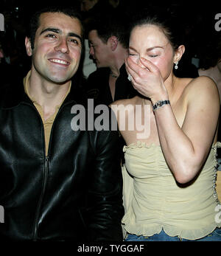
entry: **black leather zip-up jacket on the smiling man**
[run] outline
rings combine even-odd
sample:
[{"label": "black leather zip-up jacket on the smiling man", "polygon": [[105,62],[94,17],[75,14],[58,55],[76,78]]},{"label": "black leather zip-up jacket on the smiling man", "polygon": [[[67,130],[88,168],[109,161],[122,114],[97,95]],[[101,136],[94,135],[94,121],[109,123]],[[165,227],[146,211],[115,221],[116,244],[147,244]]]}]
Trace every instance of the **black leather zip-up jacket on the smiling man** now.
[{"label": "black leather zip-up jacket on the smiling man", "polygon": [[122,241],[119,134],[73,131],[74,95],[57,113],[46,156],[43,123],[23,84],[1,91],[1,239]]}]

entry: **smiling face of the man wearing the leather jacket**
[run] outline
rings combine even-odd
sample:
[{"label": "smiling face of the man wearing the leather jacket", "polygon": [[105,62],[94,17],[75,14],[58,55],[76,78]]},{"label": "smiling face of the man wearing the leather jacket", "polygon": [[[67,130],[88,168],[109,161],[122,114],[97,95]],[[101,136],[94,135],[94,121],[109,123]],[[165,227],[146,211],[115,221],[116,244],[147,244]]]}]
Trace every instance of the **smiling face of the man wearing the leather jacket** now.
[{"label": "smiling face of the man wearing the leather jacket", "polygon": [[39,24],[34,49],[26,43],[27,53],[32,55],[32,72],[41,80],[66,83],[80,63],[80,21],[63,13],[43,13]]}]

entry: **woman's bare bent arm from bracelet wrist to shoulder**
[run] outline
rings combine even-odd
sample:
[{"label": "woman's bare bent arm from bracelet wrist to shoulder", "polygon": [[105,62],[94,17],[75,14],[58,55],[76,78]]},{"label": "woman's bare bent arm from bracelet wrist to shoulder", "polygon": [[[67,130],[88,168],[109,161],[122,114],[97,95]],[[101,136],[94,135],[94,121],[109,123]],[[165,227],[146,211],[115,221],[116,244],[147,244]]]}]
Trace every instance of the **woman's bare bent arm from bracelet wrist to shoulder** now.
[{"label": "woman's bare bent arm from bracelet wrist to shoulder", "polygon": [[217,87],[212,80],[200,77],[189,86],[186,117],[181,128],[171,106],[155,111],[166,162],[180,183],[192,180],[205,162],[220,111]]}]

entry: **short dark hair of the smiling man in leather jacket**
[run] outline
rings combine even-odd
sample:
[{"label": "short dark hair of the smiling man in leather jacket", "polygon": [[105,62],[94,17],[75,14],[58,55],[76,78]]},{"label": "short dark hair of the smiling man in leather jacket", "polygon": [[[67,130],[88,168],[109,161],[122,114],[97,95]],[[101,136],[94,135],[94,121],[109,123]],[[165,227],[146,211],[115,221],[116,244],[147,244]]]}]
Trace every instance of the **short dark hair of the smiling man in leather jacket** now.
[{"label": "short dark hair of the smiling man in leather jacket", "polygon": [[74,8],[74,7],[60,7],[60,6],[43,7],[40,10],[37,10],[32,15],[32,18],[30,19],[28,36],[29,36],[30,41],[31,41],[32,49],[34,48],[35,33],[38,30],[38,27],[40,26],[39,18],[40,18],[42,13],[63,13],[65,15],[70,16],[71,18],[77,18],[80,21],[80,24],[82,26],[82,38],[83,38],[83,34],[84,34],[83,23],[82,23],[82,18],[81,18],[80,12],[79,12],[79,10],[77,10],[77,8]]}]

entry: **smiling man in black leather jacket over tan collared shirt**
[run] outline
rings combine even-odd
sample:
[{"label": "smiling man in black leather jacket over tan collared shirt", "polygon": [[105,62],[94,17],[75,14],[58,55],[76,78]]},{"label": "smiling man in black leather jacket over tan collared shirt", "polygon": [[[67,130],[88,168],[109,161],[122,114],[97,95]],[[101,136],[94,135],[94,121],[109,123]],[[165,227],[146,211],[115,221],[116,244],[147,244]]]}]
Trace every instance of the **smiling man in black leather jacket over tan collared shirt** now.
[{"label": "smiling man in black leather jacket over tan collared shirt", "polygon": [[120,241],[118,132],[71,130],[79,15],[46,9],[30,25],[32,68],[0,94],[1,241]]}]

